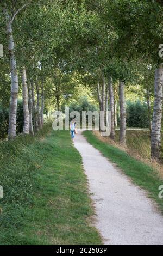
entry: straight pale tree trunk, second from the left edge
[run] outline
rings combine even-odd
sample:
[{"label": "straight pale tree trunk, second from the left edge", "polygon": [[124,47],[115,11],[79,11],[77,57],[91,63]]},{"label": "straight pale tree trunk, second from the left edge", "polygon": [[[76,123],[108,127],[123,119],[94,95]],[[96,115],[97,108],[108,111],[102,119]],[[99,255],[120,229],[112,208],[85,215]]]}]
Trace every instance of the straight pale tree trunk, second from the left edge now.
[{"label": "straight pale tree trunk, second from the left edge", "polygon": [[28,87],[27,87],[27,75],[26,75],[25,68],[22,69],[22,96],[23,96],[23,113],[24,113],[23,133],[29,134]]}]

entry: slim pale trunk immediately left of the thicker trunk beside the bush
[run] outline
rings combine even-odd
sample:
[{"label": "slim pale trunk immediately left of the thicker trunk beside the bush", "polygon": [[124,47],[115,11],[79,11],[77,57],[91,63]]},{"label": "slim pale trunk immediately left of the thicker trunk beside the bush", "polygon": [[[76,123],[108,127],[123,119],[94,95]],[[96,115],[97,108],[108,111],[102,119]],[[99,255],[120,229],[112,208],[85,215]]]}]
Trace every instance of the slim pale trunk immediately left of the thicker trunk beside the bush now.
[{"label": "slim pale trunk immediately left of the thicker trunk beside the bush", "polygon": [[112,78],[109,76],[109,99],[110,99],[110,111],[111,111],[111,124],[110,124],[110,138],[115,139],[115,127],[114,127],[114,92],[112,87]]}]

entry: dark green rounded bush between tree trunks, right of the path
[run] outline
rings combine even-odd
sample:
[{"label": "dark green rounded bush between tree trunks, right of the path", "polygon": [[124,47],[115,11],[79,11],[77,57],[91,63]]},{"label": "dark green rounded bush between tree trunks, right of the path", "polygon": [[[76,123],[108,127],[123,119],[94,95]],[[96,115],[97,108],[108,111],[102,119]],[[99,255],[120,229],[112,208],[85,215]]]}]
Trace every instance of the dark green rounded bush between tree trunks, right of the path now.
[{"label": "dark green rounded bush between tree trunks, right of the path", "polygon": [[127,102],[127,126],[148,128],[148,107],[145,102]]}]

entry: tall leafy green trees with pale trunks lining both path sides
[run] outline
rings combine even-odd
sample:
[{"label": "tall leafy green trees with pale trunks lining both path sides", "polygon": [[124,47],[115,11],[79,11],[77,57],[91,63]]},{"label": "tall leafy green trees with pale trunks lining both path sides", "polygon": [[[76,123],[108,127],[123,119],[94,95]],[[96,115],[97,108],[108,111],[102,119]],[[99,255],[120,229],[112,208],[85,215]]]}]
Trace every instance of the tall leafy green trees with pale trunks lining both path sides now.
[{"label": "tall leafy green trees with pale trunks lining both path sides", "polygon": [[10,97],[8,138],[16,137],[19,96],[23,133],[34,135],[43,126],[45,106],[59,110],[82,81],[95,92],[99,109],[110,109],[112,139],[119,102],[125,145],[124,89],[139,84],[137,93],[148,106],[151,157],[160,161],[162,8],[156,0],[1,1],[0,90],[2,105]]}]

